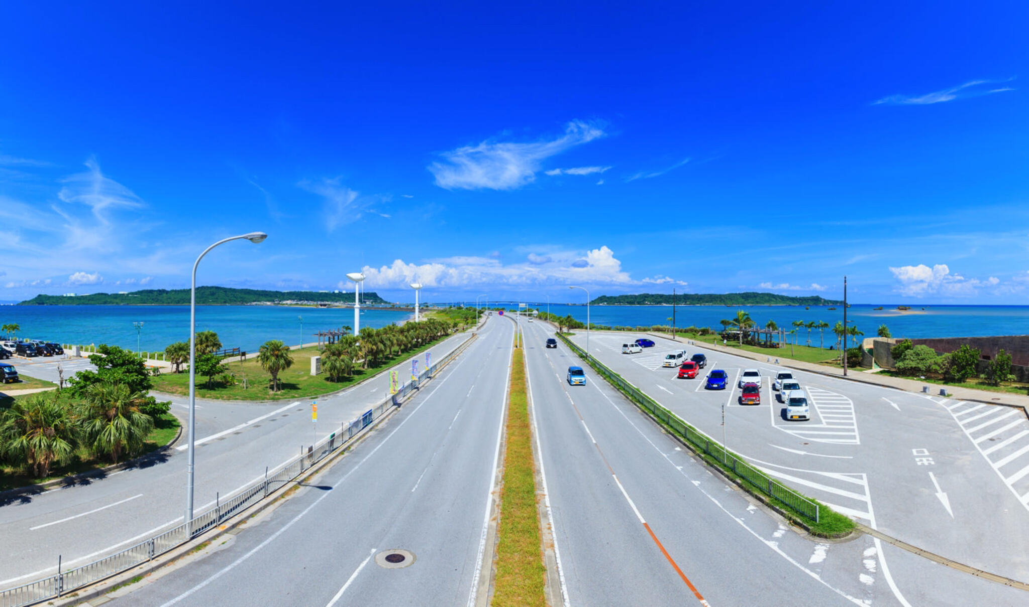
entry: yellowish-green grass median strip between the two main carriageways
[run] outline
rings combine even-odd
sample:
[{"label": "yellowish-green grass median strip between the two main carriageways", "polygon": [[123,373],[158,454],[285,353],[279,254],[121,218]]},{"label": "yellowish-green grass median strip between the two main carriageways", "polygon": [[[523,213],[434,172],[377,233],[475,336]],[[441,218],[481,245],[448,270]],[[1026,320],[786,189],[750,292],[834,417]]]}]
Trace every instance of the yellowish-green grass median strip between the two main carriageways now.
[{"label": "yellowish-green grass median strip between the two main carriageways", "polygon": [[492,605],[545,605],[535,463],[522,349],[511,357],[504,473],[497,526],[497,575]]}]

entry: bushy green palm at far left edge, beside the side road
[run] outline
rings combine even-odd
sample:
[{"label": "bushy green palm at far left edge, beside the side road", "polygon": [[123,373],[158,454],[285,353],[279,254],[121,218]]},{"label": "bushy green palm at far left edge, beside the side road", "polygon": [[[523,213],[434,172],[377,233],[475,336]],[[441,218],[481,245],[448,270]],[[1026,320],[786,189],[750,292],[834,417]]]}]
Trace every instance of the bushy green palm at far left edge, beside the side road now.
[{"label": "bushy green palm at far left edge, beside the side road", "polygon": [[71,457],[77,428],[68,409],[51,393],[15,400],[0,415],[0,454],[25,461],[42,479],[50,464]]}]

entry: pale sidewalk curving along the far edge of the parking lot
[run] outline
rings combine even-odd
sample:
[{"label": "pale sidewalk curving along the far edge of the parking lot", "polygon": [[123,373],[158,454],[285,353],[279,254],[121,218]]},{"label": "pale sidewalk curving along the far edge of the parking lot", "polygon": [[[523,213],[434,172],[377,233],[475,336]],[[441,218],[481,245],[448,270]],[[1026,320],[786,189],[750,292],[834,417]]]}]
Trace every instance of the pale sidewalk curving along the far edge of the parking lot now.
[{"label": "pale sidewalk curving along the far edge of the parking lot", "polygon": [[[664,339],[671,340],[672,338],[667,335],[648,334],[654,337],[662,337]],[[689,340],[683,340],[676,338],[675,341],[690,343]],[[863,373],[862,371],[855,371],[853,369],[848,370],[847,376],[844,377],[843,369],[836,367],[826,367],[824,365],[815,365],[814,363],[805,363],[803,361],[794,361],[792,358],[784,358],[782,356],[774,356],[772,354],[761,354],[757,352],[748,352],[747,350],[740,350],[737,348],[731,348],[726,346],[719,346],[718,344],[709,344],[707,342],[701,342],[705,348],[711,348],[712,350],[718,352],[725,352],[728,354],[735,354],[737,356],[743,356],[745,358],[751,358],[753,361],[760,361],[761,358],[771,358],[773,362],[778,358],[778,365],[780,367],[786,367],[789,369],[796,369],[797,371],[808,371],[811,373],[818,373],[821,375],[827,375],[829,377],[836,377],[838,379],[845,379],[849,381],[856,381],[860,383],[866,383],[872,385],[878,385],[887,388],[894,388],[897,390],[903,390],[906,392],[916,392],[923,393],[922,387],[928,386],[929,395],[938,396],[939,389],[943,388],[947,390],[950,394],[949,399],[955,401],[969,401],[975,403],[986,403],[988,405],[1003,405],[1005,407],[1017,407],[1026,412],[1029,416],[1029,395],[1022,394],[1012,394],[1009,392],[990,392],[987,390],[977,390],[974,388],[965,388],[961,386],[953,385],[943,385],[934,383],[924,383],[918,381],[917,379],[906,379],[902,377],[890,377],[888,375],[880,375],[878,373]]]}]

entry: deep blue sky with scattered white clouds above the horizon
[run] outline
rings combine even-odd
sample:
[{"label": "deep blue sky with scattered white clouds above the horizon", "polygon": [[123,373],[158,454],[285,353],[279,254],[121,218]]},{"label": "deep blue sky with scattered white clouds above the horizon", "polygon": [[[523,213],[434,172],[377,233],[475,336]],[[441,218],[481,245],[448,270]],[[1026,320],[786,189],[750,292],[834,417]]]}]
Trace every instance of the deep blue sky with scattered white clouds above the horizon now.
[{"label": "deep blue sky with scattered white clouds above the horizon", "polygon": [[1029,293],[1026,3],[145,4],[5,10],[0,300]]}]

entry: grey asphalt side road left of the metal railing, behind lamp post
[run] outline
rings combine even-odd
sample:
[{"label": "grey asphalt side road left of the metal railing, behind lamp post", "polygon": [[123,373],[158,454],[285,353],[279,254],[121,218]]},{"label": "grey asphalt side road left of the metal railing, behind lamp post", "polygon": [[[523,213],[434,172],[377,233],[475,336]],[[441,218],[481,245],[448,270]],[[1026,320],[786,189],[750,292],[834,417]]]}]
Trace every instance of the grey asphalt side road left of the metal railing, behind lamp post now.
[{"label": "grey asphalt side road left of the metal railing, behind lamp post", "polygon": [[[439,361],[471,337],[458,334],[433,346]],[[419,369],[425,355],[419,354]],[[84,359],[61,362],[72,369]],[[56,379],[58,362],[21,365],[30,375]],[[397,365],[410,377],[410,362]],[[404,373],[407,375],[405,376]],[[71,373],[66,371],[67,378]],[[431,385],[431,384],[429,384]],[[349,423],[389,393],[388,374],[330,396],[319,397],[318,422],[311,400],[278,403],[226,403],[198,400],[193,511],[232,497],[252,482],[299,454],[341,424]],[[184,420],[184,397],[172,397],[173,413]],[[162,461],[112,472],[79,485],[23,495],[0,502],[0,537],[12,558],[0,560],[0,587],[10,587],[64,567],[75,567],[179,525],[185,511],[185,441]]]}]

